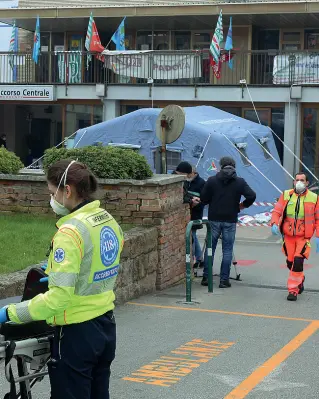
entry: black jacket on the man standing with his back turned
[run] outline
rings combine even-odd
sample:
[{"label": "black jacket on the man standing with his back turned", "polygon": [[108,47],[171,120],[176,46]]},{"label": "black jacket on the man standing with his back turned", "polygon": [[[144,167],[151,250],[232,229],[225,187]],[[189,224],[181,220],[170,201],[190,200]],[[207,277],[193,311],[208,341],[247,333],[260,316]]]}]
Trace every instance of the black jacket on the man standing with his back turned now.
[{"label": "black jacket on the man standing with his back turned", "polygon": [[245,197],[245,208],[249,208],[256,199],[256,193],[246,181],[237,177],[235,168],[226,166],[207,180],[200,199],[209,205],[208,220],[236,223],[242,196]]}]

